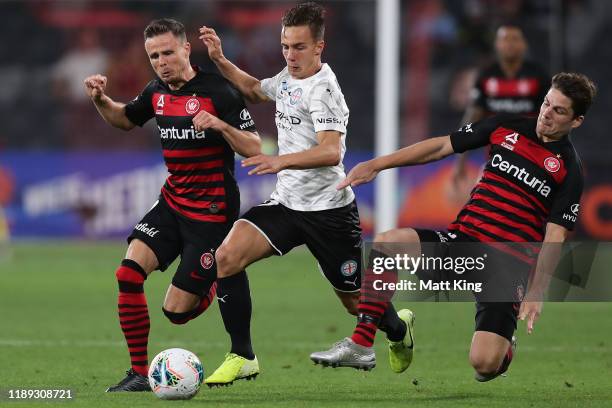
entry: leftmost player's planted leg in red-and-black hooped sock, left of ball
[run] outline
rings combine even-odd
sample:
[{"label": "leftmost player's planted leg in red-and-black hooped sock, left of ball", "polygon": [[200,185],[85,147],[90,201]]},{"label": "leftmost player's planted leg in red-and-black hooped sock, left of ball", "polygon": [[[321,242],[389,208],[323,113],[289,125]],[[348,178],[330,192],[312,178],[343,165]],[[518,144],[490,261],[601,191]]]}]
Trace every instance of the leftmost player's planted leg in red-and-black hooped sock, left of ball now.
[{"label": "leftmost player's planted leg in red-and-black hooped sock, left of ball", "polygon": [[147,379],[150,323],[144,281],[157,266],[157,257],[151,248],[138,239],[130,242],[116,276],[119,283],[119,323],[130,352],[132,367],[126,377],[109,387],[107,392],[151,390]]}]

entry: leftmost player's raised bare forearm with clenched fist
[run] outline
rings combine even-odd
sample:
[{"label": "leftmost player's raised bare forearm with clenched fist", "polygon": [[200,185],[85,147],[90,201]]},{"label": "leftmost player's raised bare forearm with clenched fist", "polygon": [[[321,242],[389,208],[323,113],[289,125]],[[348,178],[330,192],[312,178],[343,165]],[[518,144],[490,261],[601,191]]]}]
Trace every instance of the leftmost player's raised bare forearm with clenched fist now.
[{"label": "leftmost player's raised bare forearm with clenched fist", "polygon": [[130,130],[135,126],[125,115],[125,104],[113,101],[104,93],[107,82],[104,75],[91,75],[85,78],[83,82],[87,96],[91,98],[100,116],[107,123],[123,130]]}]

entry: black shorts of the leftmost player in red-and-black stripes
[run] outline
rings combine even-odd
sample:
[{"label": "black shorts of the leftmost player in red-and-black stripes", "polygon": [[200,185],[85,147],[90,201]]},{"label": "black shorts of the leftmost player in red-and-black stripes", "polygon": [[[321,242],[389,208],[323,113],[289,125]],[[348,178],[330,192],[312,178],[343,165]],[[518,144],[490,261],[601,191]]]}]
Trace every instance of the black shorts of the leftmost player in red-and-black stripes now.
[{"label": "black shorts of the leftmost player in red-and-black stripes", "polygon": [[165,271],[180,255],[172,278],[179,289],[198,296],[208,294],[217,279],[215,251],[228,234],[231,223],[200,222],[174,212],[163,198],[140,220],[128,237],[144,242],[157,257],[158,269]]}]

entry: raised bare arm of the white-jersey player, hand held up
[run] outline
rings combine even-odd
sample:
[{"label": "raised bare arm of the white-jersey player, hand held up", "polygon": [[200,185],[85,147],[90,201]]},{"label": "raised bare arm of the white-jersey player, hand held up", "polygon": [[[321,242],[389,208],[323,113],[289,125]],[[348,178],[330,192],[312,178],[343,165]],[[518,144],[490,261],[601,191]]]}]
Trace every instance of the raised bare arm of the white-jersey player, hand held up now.
[{"label": "raised bare arm of the white-jersey player, hand held up", "polygon": [[208,56],[215,63],[221,75],[230,81],[247,101],[251,103],[261,103],[270,100],[261,90],[259,79],[247,74],[223,55],[221,39],[214,29],[210,27],[200,27],[200,37],[208,48]]}]

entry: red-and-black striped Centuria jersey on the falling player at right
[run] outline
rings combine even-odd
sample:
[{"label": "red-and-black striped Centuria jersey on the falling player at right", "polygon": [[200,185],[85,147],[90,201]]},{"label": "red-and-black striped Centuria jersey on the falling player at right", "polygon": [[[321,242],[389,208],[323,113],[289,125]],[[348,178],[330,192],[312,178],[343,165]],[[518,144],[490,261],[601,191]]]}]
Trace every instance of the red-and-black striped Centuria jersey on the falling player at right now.
[{"label": "red-and-black striped Centuria jersey on the falling player at right", "polygon": [[486,145],[490,152],[449,230],[478,241],[541,242],[548,222],[574,228],[583,187],[580,159],[568,136],[540,141],[536,120],[497,115],[451,134],[457,153]]}]

